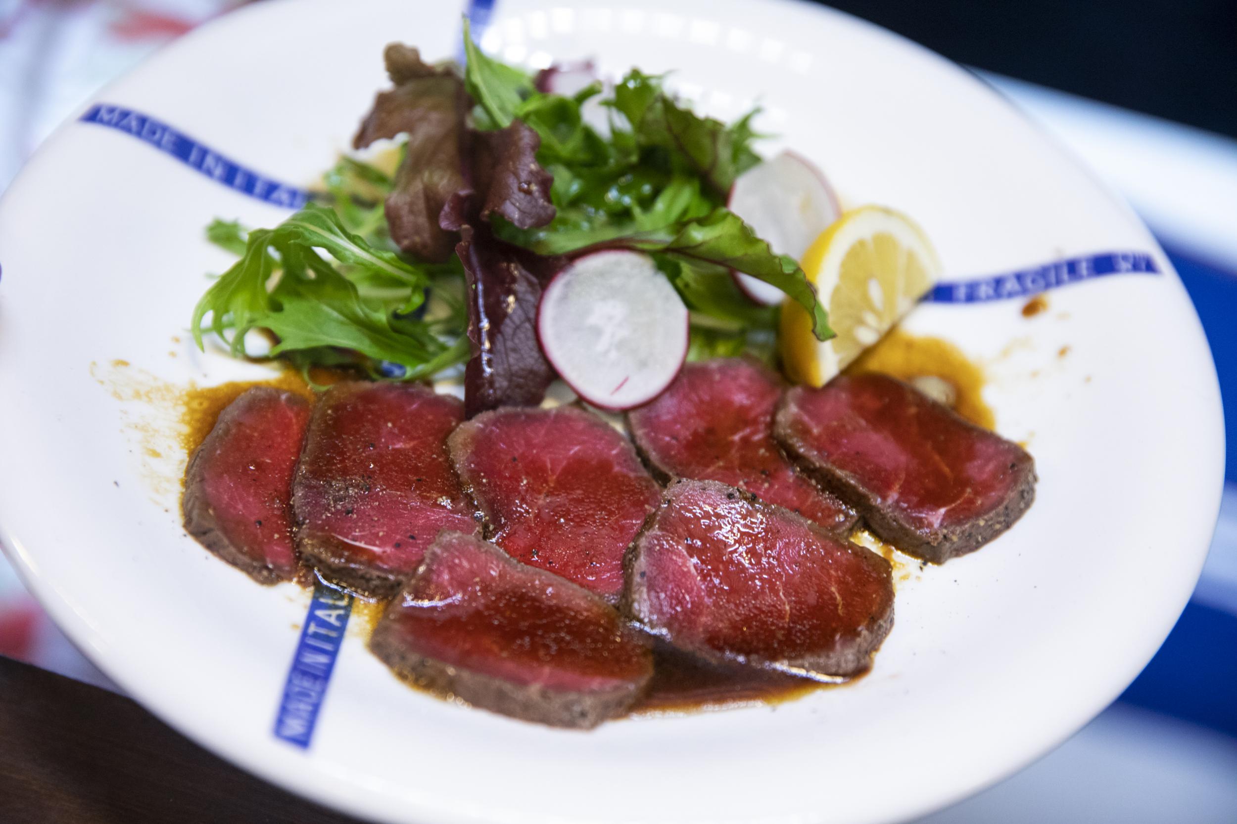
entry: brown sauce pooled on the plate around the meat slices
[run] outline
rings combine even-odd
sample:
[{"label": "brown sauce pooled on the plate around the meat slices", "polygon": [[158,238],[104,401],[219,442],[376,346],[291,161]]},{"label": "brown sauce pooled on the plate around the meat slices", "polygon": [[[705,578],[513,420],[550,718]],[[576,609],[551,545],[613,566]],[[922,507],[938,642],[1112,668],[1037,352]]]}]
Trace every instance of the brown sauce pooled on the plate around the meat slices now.
[{"label": "brown sauce pooled on the plate around the meat slices", "polygon": [[[925,376],[941,378],[956,390],[954,406],[960,415],[988,429],[993,425],[992,410],[981,395],[985,383],[982,369],[948,341],[917,337],[894,329],[856,359],[847,372],[883,372],[903,380]],[[345,377],[348,376],[344,373],[329,371],[314,371],[310,376],[318,384],[335,383]],[[267,380],[190,387],[183,390],[181,397],[182,446],[186,455],[190,455],[210,432],[219,413],[242,392],[255,385],[271,385],[313,397],[309,384],[292,371]],[[862,530],[857,531],[852,540],[888,560],[893,565],[897,582],[904,582],[910,577],[917,562],[909,556],[903,556],[894,547],[882,544]],[[313,576],[298,576],[297,583],[312,587]],[[369,640],[386,604],[385,600],[354,598],[349,634]],[[857,678],[862,678],[862,675],[841,683],[825,683],[753,667],[713,665],[677,652],[654,640],[653,679],[647,694],[632,708],[631,714],[683,713],[742,704],[776,705]],[[439,698],[455,700],[453,696],[426,689],[416,683],[409,686]]]}]

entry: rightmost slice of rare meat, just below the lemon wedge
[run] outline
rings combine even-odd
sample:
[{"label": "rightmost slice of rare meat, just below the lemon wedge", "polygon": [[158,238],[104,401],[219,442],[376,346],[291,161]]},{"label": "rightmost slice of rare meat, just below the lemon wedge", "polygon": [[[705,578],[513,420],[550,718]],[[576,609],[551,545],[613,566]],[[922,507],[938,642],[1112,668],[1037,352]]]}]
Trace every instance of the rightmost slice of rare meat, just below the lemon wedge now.
[{"label": "rightmost slice of rare meat, just below the lemon wedge", "polygon": [[935,563],[980,549],[1035,497],[1022,447],[882,374],[790,389],[774,431],[882,540]]}]

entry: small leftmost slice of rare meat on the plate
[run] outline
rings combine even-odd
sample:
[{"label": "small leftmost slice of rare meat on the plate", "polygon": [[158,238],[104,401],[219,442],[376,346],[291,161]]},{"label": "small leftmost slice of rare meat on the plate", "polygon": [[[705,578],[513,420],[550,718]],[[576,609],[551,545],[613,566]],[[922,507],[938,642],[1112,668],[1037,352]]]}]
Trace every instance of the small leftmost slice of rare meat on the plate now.
[{"label": "small leftmost slice of rare meat on the plate", "polygon": [[260,583],[297,571],[292,546],[292,473],[309,401],[255,387],[219,415],[184,476],[184,529]]}]

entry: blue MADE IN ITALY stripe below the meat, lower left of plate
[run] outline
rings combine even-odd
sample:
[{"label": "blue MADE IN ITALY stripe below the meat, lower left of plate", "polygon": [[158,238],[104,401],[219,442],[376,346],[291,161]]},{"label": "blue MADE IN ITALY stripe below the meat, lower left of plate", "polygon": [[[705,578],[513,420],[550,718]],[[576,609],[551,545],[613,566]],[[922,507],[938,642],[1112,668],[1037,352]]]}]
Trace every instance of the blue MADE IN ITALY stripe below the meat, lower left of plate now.
[{"label": "blue MADE IN ITALY stripe below the meat, lower left of plate", "polygon": [[327,697],[330,673],[344,644],[353,597],[322,581],[314,586],[309,613],[301,628],[292,667],[283,683],[283,698],[275,718],[275,736],[301,749],[309,749],[318,710]]}]

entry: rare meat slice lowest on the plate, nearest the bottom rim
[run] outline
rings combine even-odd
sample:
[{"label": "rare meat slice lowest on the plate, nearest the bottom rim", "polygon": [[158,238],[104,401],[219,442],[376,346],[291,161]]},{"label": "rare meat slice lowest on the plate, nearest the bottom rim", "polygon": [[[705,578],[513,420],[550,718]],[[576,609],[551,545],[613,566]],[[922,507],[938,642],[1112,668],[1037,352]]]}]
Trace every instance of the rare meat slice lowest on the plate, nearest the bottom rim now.
[{"label": "rare meat slice lowest on the plate, nearest the bottom rim", "polygon": [[370,649],[423,687],[554,726],[621,715],[653,672],[614,607],[460,532],[429,547]]}]

